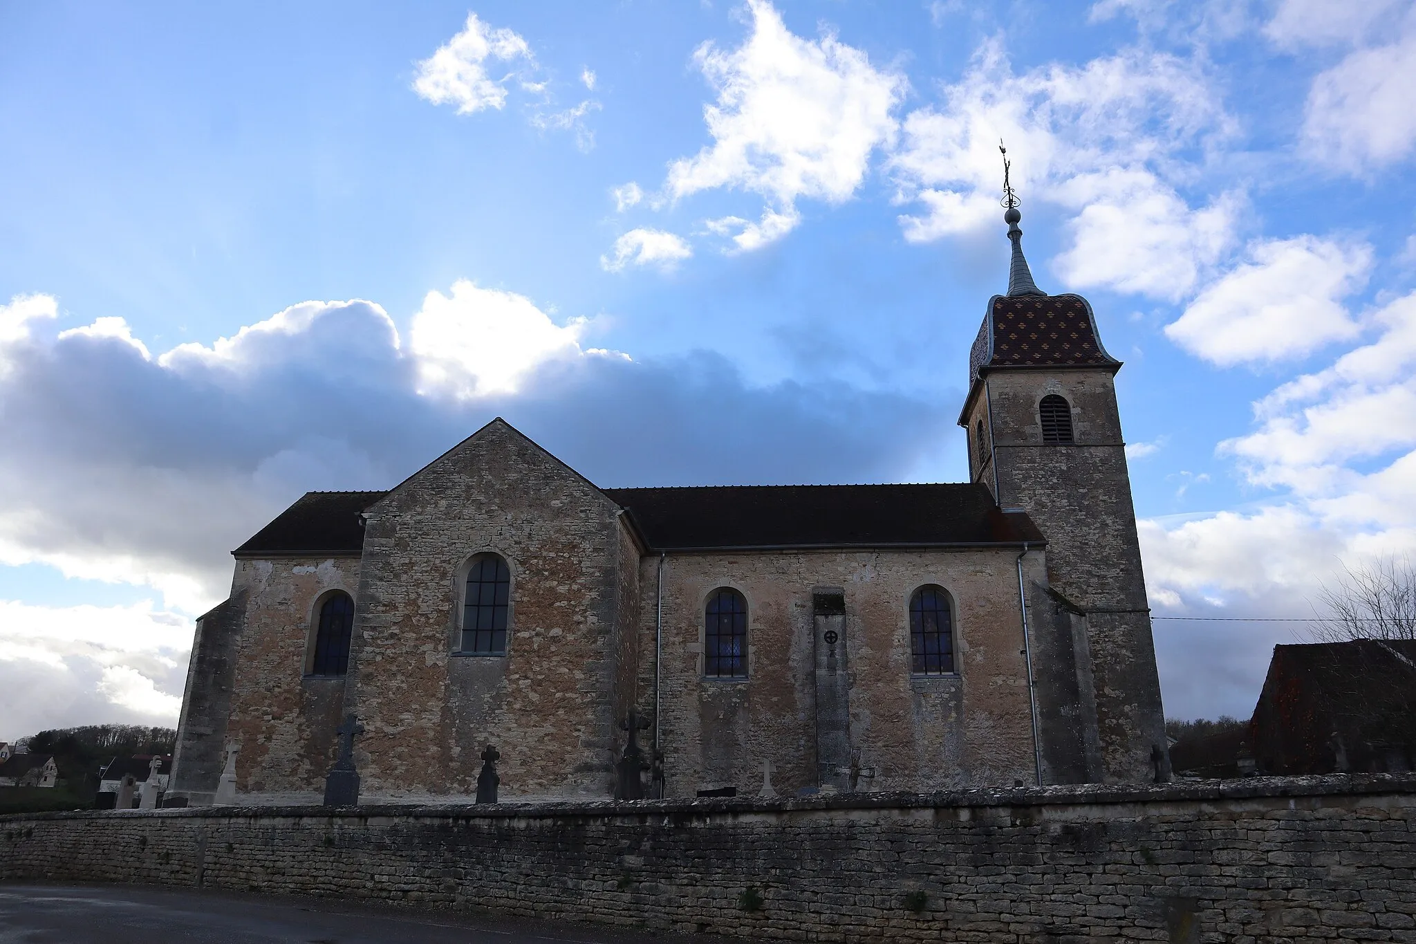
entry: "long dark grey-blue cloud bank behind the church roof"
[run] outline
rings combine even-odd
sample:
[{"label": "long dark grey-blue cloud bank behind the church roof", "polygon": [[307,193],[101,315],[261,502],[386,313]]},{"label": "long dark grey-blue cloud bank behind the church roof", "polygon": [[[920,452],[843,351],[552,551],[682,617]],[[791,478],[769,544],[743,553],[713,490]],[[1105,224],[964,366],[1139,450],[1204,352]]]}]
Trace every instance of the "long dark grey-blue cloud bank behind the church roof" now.
[{"label": "long dark grey-blue cloud bank behind the church roof", "polygon": [[605,485],[881,481],[954,437],[952,405],[755,388],[707,352],[572,352],[517,393],[425,395],[416,355],[360,301],[297,306],[160,358],[31,323],[0,358],[0,481],[23,502],[0,517],[6,556],[170,599],[184,580],[188,597],[224,596],[228,551],[300,493],[389,487],[497,415]]}]

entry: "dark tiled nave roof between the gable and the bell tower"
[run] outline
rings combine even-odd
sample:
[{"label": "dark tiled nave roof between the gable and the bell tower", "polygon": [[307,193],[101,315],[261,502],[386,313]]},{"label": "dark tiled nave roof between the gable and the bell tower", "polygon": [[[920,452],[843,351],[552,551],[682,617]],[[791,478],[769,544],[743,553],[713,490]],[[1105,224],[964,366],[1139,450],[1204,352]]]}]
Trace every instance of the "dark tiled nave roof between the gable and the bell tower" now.
[{"label": "dark tiled nave roof between the gable and the bell tower", "polygon": [[1042,543],[980,484],[606,488],[656,551]]}]

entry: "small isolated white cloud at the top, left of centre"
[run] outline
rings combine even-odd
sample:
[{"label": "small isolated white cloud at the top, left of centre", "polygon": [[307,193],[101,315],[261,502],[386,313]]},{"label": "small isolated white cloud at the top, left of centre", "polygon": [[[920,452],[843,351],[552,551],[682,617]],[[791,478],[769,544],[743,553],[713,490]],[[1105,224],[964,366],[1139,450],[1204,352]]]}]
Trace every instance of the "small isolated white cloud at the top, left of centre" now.
[{"label": "small isolated white cloud at the top, left of centre", "polygon": [[493,30],[469,13],[462,31],[418,64],[413,91],[433,105],[456,105],[459,115],[500,109],[507,103],[506,85],[515,74],[493,76],[489,65],[518,59],[534,59],[525,40],[507,28]]}]

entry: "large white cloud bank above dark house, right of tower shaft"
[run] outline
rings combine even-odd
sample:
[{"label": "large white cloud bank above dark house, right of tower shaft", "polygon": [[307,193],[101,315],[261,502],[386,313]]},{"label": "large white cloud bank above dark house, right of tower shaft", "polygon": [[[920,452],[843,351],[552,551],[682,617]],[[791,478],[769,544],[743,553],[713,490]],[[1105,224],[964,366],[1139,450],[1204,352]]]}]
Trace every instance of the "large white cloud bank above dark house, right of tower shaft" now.
[{"label": "large white cloud bank above dark house, right of tower shaft", "polygon": [[[1252,511],[1140,522],[1147,590],[1163,613],[1308,617],[1344,563],[1416,552],[1416,293],[1371,317],[1379,335],[1255,403],[1256,427],[1219,444],[1245,484],[1276,490]],[[1304,624],[1157,623],[1167,703],[1247,712],[1269,647]],[[1223,678],[1198,685],[1199,645],[1222,648]],[[1245,703],[1247,699],[1247,705]]]}]

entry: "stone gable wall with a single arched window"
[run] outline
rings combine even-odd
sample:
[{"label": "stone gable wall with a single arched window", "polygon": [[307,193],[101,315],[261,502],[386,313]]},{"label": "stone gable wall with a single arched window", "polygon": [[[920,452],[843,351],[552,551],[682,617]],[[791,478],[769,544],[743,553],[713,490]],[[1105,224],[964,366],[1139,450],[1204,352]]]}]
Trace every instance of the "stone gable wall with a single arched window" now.
[{"label": "stone gable wall with a single arched window", "polygon": [[[610,795],[620,596],[636,606],[622,570],[637,568],[617,511],[500,420],[367,510],[346,685],[365,797],[470,797],[489,743],[503,797]],[[483,552],[511,570],[507,651],[459,655]]]}]

